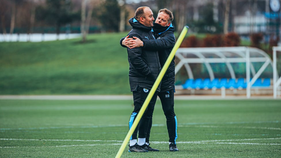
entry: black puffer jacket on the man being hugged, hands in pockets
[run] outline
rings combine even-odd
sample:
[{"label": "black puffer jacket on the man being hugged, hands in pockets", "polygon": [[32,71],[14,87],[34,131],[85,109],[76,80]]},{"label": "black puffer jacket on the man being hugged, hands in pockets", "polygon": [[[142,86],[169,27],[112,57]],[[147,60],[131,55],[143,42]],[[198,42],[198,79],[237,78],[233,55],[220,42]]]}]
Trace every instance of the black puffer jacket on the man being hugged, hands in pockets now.
[{"label": "black puffer jacket on the man being hugged, hands in pockets", "polygon": [[[128,33],[129,38],[138,37],[143,39],[155,39],[151,33],[151,27],[144,26],[135,18],[131,18],[129,23],[133,29]],[[130,64],[129,82],[131,91],[136,91],[138,87],[151,89],[156,78],[161,71],[157,50],[145,50],[142,47],[129,49],[128,61]],[[160,85],[157,88],[160,91]]]}]

